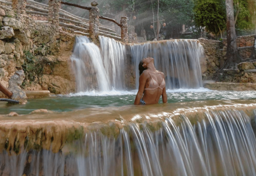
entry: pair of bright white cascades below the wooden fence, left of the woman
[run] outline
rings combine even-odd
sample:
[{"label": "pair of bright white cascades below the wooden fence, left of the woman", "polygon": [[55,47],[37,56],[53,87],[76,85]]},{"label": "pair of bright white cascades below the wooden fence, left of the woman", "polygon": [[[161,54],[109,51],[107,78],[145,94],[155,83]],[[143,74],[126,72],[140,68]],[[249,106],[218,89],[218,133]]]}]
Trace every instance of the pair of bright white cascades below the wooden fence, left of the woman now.
[{"label": "pair of bright white cascades below the wooden fence, left of the woman", "polygon": [[87,37],[76,37],[71,61],[77,92],[125,88],[125,46],[107,37],[100,36],[99,41],[101,50]]}]

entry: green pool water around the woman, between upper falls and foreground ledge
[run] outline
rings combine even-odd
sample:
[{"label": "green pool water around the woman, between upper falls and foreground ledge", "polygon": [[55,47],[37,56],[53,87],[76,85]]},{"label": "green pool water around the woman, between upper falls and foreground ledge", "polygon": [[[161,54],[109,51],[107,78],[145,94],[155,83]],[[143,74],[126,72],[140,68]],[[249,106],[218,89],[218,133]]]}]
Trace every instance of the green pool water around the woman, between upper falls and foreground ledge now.
[{"label": "green pool water around the woman, between upper falls and foreground ledge", "polygon": [[[115,91],[106,94],[73,94],[69,96],[28,99],[26,105],[0,102],[0,114],[9,114],[10,112],[28,114],[36,109],[62,112],[86,108],[121,107],[125,105],[133,105],[136,93],[136,91]],[[207,89],[177,90],[169,91],[167,97],[168,103],[236,99],[243,99],[246,101],[256,99],[256,91],[209,91]],[[161,98],[159,102],[162,102]]]}]

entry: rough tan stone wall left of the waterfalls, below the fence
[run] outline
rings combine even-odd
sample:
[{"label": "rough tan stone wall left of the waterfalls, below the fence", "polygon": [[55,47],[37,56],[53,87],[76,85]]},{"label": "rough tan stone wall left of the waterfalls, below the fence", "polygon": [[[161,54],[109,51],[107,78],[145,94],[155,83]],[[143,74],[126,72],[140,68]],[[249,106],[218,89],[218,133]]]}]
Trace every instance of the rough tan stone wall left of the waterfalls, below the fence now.
[{"label": "rough tan stone wall left of the waterfalls, below the fence", "polygon": [[25,90],[74,91],[69,68],[73,30],[35,21],[4,6],[0,6],[0,26],[0,82],[6,88],[15,71],[23,69]]}]

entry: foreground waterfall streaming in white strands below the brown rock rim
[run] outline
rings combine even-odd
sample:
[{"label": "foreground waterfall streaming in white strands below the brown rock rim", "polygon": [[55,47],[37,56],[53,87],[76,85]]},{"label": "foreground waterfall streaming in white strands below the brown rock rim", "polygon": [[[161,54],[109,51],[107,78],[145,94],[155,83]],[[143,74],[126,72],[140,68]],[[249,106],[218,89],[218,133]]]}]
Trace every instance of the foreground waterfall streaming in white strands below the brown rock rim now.
[{"label": "foreground waterfall streaming in white strands below the brown rock rim", "polygon": [[81,139],[76,135],[57,153],[21,146],[16,155],[12,148],[3,149],[0,175],[255,176],[255,112],[203,114],[200,120],[180,114],[179,119],[169,116],[156,123],[127,123],[116,132],[98,126],[83,132]]}]

